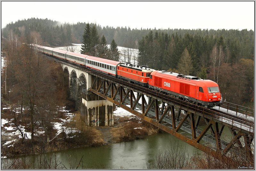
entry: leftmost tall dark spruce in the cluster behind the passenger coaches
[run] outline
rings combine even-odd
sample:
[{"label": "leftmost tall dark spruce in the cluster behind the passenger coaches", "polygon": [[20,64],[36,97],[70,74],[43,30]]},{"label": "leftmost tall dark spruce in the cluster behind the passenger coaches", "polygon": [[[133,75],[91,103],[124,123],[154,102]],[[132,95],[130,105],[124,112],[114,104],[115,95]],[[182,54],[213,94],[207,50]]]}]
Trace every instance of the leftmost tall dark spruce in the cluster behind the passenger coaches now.
[{"label": "leftmost tall dark spruce in the cluster behind the passenger coaches", "polygon": [[87,23],[84,29],[83,42],[81,45],[81,54],[91,55],[91,28]]}]

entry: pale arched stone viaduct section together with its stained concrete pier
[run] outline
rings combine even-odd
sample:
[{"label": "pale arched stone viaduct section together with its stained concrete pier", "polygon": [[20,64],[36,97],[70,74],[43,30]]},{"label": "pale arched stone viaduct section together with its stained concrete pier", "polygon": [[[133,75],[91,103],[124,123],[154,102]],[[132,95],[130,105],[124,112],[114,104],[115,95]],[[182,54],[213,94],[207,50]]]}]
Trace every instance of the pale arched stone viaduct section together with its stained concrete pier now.
[{"label": "pale arched stone viaduct section together with its stained concrete pier", "polygon": [[87,92],[93,76],[70,65],[61,65],[65,79],[68,79],[70,98],[76,103],[75,109],[81,111],[81,119],[90,126],[113,125],[113,103]]}]

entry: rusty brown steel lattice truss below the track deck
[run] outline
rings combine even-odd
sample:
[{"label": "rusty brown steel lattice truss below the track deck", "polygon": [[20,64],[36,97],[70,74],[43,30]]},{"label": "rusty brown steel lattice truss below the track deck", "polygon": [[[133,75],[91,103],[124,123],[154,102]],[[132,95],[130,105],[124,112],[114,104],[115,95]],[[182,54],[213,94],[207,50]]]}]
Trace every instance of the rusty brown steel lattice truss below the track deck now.
[{"label": "rusty brown steel lattice truss below the track deck", "polygon": [[[219,153],[224,155],[230,154],[233,147],[245,149],[249,155],[253,155],[251,148],[252,139],[254,138],[253,133],[247,133],[247,131],[232,125],[219,123],[213,117],[209,117],[209,115],[205,115],[205,113],[199,113],[197,108],[194,108],[194,110],[188,106],[185,108],[183,104],[177,105],[171,101],[155,97],[148,92],[136,90],[134,87],[124,86],[96,76],[92,77],[92,84],[88,90],[199,150],[213,154],[215,157],[218,156]],[[149,97],[148,102],[146,102],[145,96]],[[161,109],[158,105],[160,103],[162,103]],[[177,108],[176,112],[175,108]],[[182,111],[183,114],[181,114]],[[206,125],[203,125],[205,126],[204,129],[201,130],[199,129],[200,118],[204,119],[206,123]],[[167,122],[167,120],[169,122]],[[184,125],[185,123],[186,126]],[[189,125],[187,125],[187,123],[189,123]],[[230,128],[234,134],[234,138],[228,142],[225,142],[222,139],[223,136],[221,136],[225,126]],[[184,132],[180,132],[183,127],[189,127],[191,130],[190,134],[183,135],[182,133]],[[214,142],[210,144],[214,145],[204,143],[206,142],[205,139],[207,139],[206,135],[209,135],[209,130],[212,132],[211,142]],[[244,145],[242,145],[240,141],[242,140],[241,137],[244,137],[246,142],[243,143]]]}]

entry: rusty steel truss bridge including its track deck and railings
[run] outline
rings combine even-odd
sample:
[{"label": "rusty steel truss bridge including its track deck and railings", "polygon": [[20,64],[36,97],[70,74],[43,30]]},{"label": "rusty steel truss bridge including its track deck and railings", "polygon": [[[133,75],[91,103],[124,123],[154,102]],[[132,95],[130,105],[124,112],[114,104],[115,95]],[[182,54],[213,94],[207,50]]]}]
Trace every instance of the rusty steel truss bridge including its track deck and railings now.
[{"label": "rusty steel truss bridge including its track deck and railings", "polygon": [[[203,152],[254,155],[254,110],[224,102],[208,109],[64,60],[91,74],[91,91]],[[200,122],[201,121],[201,122]],[[200,123],[200,124],[199,124]],[[203,124],[202,124],[203,123]],[[226,135],[223,130],[226,127]],[[217,155],[216,155],[217,154]]]}]

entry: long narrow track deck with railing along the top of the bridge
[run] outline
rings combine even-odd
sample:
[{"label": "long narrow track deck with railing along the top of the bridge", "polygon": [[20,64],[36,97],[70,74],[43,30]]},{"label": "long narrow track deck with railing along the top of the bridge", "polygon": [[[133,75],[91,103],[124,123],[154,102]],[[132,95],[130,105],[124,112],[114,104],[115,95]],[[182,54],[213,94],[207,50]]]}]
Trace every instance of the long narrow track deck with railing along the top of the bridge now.
[{"label": "long narrow track deck with railing along the top of the bridge", "polygon": [[[199,115],[202,115],[203,117],[207,117],[208,119],[211,120],[215,120],[215,121],[221,121],[222,124],[226,124],[226,125],[231,125],[234,126],[236,128],[239,128],[240,130],[247,130],[250,133],[254,133],[254,122],[248,119],[244,119],[242,117],[239,116],[232,116],[232,115],[228,115],[227,113],[219,113],[216,111],[213,111],[209,108],[204,108],[201,106],[197,106],[195,104],[180,100],[180,99],[176,99],[174,97],[171,97],[169,95],[163,94],[163,93],[159,93],[153,90],[150,90],[148,88],[145,87],[141,87],[123,80],[120,80],[118,78],[115,77],[111,77],[108,76],[106,74],[103,74],[101,72],[97,72],[97,71],[93,71],[90,70],[88,68],[85,68],[84,66],[80,66],[80,65],[76,65],[74,63],[65,61],[65,60],[60,60],[65,64],[68,64],[72,67],[78,68],[80,70],[86,71],[87,73],[94,75],[94,76],[98,76],[104,79],[107,79],[109,81],[114,82],[115,84],[120,84],[123,85],[123,87],[126,88],[130,88],[131,90],[135,90],[137,92],[143,93],[149,97],[154,97],[155,99],[158,100],[163,100],[165,103],[169,104],[172,103],[174,104],[174,106],[179,107],[181,109],[193,112],[193,113],[197,113]],[[229,103],[230,104],[230,103]],[[239,106],[239,105],[237,105]],[[230,109],[230,107],[229,107]],[[248,110],[247,110],[248,111]]]}]

